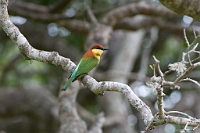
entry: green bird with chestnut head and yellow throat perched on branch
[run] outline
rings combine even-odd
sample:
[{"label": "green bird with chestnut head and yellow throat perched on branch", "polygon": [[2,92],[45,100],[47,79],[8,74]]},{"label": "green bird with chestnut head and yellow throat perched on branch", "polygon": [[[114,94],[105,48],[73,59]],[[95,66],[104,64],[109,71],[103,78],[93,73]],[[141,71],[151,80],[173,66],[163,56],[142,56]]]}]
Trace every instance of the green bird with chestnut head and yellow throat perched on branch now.
[{"label": "green bird with chestnut head and yellow throat perched on branch", "polygon": [[67,87],[74,82],[76,79],[88,74],[96,65],[100,62],[100,57],[107,48],[104,48],[101,44],[93,44],[90,49],[80,59],[78,65],[69,76],[67,82],[61,91],[65,91]]}]

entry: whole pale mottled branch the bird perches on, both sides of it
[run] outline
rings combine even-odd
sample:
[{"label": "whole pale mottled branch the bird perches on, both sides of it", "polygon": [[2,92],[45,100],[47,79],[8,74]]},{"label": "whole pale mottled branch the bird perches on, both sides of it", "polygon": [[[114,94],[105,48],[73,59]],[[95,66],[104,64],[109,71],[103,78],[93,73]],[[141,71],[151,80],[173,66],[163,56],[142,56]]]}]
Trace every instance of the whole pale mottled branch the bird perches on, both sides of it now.
[{"label": "whole pale mottled branch the bird perches on, both sides of it", "polygon": [[[7,0],[0,1],[0,25],[10,39],[17,44],[21,53],[28,60],[49,62],[61,66],[64,70],[72,72],[75,64],[70,59],[60,56],[57,52],[46,52],[33,48],[27,39],[20,33],[19,29],[10,21],[7,12]],[[132,89],[125,84],[117,82],[97,82],[92,77],[84,76],[82,82],[95,94],[102,94],[104,91],[118,91],[123,93],[128,101],[141,113],[144,123],[148,125],[152,121],[152,113],[149,107],[139,99]]]}]

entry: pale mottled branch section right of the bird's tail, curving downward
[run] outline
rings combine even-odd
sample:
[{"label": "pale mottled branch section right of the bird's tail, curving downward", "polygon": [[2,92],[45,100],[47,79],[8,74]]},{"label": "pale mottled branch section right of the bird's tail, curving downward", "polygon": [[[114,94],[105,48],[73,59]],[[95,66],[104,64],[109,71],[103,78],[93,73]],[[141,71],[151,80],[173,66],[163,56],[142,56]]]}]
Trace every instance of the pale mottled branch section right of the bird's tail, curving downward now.
[{"label": "pale mottled branch section right of the bird's tail, curving downward", "polygon": [[97,82],[88,75],[84,76],[82,82],[97,95],[102,95],[105,91],[116,91],[123,93],[127,100],[141,113],[146,125],[152,121],[153,116],[151,110],[143,101],[141,101],[140,98],[138,98],[137,95],[135,95],[128,85],[111,81]]}]

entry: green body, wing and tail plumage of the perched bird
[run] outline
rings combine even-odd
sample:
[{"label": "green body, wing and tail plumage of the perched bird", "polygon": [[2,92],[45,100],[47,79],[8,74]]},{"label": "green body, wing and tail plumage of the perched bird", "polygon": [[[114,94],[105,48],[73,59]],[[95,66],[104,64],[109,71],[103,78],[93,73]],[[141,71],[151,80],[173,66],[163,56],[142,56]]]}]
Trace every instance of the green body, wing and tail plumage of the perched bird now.
[{"label": "green body, wing and tail plumage of the perched bird", "polygon": [[95,57],[82,58],[62,88],[62,91],[65,91],[71,82],[91,71],[98,63],[99,60]]}]

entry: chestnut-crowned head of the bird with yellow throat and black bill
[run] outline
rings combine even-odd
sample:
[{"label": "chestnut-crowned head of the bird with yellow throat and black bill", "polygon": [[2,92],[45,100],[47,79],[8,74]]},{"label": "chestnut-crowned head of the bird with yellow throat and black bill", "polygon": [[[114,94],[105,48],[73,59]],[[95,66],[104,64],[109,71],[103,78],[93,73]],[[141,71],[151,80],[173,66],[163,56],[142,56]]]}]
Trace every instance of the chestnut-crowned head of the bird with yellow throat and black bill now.
[{"label": "chestnut-crowned head of the bird with yellow throat and black bill", "polygon": [[103,53],[103,51],[108,50],[107,48],[104,48],[101,44],[94,44],[90,47],[90,50],[92,51],[95,58],[100,60],[100,57]]}]

